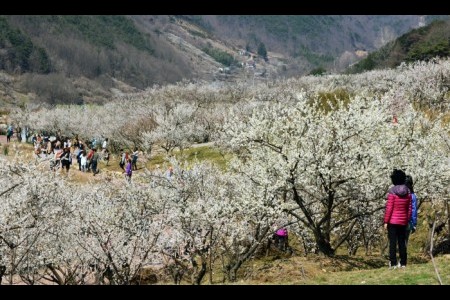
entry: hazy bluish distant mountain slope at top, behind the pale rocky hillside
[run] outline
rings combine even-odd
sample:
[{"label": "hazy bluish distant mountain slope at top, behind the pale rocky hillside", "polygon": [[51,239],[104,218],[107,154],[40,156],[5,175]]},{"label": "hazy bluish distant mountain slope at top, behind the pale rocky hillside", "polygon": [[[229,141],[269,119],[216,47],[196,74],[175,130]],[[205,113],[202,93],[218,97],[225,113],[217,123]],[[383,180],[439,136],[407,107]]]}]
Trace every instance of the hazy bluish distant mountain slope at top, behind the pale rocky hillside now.
[{"label": "hazy bluish distant mountain slope at top, behind the pale rocky hillside", "polygon": [[172,21],[189,24],[184,38],[197,47],[213,39],[236,53],[267,52],[277,59],[280,76],[303,75],[316,67],[336,72],[399,35],[446,16],[233,15],[186,16]]}]

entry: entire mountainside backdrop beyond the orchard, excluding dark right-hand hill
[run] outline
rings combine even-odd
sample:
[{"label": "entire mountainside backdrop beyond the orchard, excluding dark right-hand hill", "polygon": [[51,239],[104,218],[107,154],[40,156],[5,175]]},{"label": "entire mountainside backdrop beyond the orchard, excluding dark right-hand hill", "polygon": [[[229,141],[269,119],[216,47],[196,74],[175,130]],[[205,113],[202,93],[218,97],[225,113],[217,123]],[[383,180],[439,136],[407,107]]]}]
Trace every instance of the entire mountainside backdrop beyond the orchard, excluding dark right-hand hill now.
[{"label": "entire mountainside backdrop beyond the orchard, excluding dark right-hand hill", "polygon": [[106,103],[182,80],[339,71],[440,16],[0,16],[5,111]]}]

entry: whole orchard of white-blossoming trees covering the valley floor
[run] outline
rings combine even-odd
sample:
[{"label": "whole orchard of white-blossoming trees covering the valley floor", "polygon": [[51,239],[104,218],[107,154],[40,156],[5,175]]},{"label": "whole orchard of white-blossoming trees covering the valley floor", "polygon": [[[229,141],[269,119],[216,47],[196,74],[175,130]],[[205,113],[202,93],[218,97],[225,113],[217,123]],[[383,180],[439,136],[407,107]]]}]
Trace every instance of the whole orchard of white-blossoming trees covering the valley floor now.
[{"label": "whole orchard of white-blossoming trees covering the valley floor", "polygon": [[1,283],[135,284],[147,268],[174,283],[212,282],[213,270],[235,281],[283,225],[303,245],[298,253],[333,255],[345,245],[368,253],[384,234],[392,169],[413,176],[422,202],[441,209],[448,197],[449,86],[450,61],[434,60],[24,110],[15,123],[34,130],[108,137],[148,154],[213,141],[232,158],[225,170],[168,158],[172,178],[145,170],[117,186],[0,157]]}]

